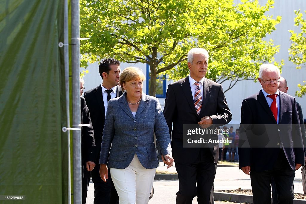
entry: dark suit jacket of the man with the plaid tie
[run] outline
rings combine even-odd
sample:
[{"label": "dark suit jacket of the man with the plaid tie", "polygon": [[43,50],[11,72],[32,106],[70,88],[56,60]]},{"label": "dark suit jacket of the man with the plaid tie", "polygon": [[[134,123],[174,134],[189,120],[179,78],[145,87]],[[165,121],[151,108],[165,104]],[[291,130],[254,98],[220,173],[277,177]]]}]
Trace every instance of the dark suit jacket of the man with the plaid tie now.
[{"label": "dark suit jacket of the man with the plaid tie", "polygon": [[[213,124],[227,124],[232,114],[227,106],[221,84],[204,78],[203,103],[197,114],[188,77],[169,84],[164,116],[169,127],[172,155],[176,162],[193,163],[201,148],[183,148],[183,124],[197,124],[204,116],[211,116]],[[172,129],[173,122],[173,129]],[[218,139],[218,135],[215,135]],[[211,157],[218,163],[219,146],[210,147]]]}]

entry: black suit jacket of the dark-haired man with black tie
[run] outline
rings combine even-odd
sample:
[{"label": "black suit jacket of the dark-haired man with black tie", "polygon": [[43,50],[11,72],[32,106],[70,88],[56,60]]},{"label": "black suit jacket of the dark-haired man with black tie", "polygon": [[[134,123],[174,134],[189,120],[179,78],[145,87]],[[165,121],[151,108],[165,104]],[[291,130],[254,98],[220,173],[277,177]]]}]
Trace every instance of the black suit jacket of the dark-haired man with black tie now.
[{"label": "black suit jacket of the dark-haired man with black tie", "polygon": [[[122,89],[120,86],[117,86],[117,95],[119,97],[123,94]],[[86,100],[92,127],[95,133],[95,164],[99,164],[100,158],[100,149],[101,149],[101,142],[102,142],[102,135],[103,135],[103,128],[104,128],[104,121],[105,121],[105,108],[103,103],[103,95],[102,95],[102,86],[101,84],[94,89],[84,92],[84,98]]]}]

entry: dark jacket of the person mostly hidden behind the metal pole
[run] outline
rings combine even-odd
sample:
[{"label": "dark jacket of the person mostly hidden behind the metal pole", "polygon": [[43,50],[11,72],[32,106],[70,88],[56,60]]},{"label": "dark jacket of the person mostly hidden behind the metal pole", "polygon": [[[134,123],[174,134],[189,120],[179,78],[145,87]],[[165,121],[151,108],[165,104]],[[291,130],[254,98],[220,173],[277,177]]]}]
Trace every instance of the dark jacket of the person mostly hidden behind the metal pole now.
[{"label": "dark jacket of the person mostly hidden behind the metal pole", "polygon": [[[81,124],[90,124],[90,126],[84,126],[81,129],[81,141],[82,141],[82,175],[83,170],[86,168],[86,162],[95,162],[95,137],[94,130],[90,120],[89,110],[85,102],[85,98],[81,97]],[[97,163],[96,163],[97,165]]]}]

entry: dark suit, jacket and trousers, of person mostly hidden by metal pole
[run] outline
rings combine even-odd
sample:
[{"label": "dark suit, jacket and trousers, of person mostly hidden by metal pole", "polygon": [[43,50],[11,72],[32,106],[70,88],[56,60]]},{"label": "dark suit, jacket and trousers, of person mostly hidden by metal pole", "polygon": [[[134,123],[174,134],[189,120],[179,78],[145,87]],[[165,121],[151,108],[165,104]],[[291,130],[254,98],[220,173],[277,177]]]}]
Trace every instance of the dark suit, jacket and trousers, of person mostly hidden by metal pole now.
[{"label": "dark suit, jacket and trousers, of person mostly hidden by metal pole", "polygon": [[[84,126],[81,129],[81,141],[82,141],[82,203],[86,203],[87,190],[90,181],[90,172],[86,169],[86,162],[95,162],[95,137],[90,120],[89,110],[86,105],[85,99],[80,96],[81,99],[81,124],[90,124],[90,126]],[[97,165],[97,163],[95,163]]]}]

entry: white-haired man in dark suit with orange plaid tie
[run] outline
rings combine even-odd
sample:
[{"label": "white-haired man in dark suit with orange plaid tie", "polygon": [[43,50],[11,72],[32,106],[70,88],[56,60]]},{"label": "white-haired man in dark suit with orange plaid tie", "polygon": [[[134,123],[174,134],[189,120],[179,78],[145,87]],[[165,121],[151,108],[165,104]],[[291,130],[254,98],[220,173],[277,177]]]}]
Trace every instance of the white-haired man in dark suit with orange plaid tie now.
[{"label": "white-haired man in dark suit with orange plaid tie", "polygon": [[[213,184],[219,157],[219,147],[184,148],[183,124],[227,124],[232,114],[227,106],[222,86],[205,77],[208,52],[193,48],[188,52],[189,76],[168,86],[164,116],[169,127],[172,155],[179,178],[176,203],[191,204],[213,201]],[[173,129],[172,129],[173,123]],[[215,135],[218,139],[217,135]]]}]

